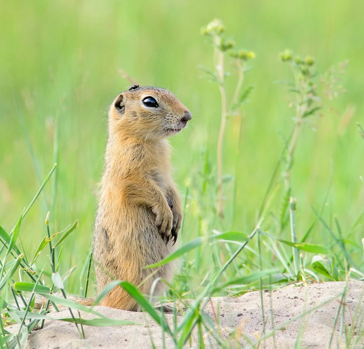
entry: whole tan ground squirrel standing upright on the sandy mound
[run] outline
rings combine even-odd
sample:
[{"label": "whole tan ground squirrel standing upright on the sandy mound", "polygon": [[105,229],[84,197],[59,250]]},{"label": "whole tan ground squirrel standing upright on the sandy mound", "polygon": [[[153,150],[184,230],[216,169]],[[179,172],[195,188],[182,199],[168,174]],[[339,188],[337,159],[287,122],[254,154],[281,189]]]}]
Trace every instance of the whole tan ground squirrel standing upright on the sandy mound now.
[{"label": "whole tan ground squirrel standing upright on the sandy mound", "polygon": [[[172,263],[157,271],[145,266],[175,249],[183,214],[166,138],[181,131],[191,117],[171,92],[155,87],[133,85],[111,104],[94,230],[98,292],[111,281],[107,273],[139,285],[144,294],[150,293],[155,279],[171,279]],[[163,289],[159,282],[155,294]],[[121,287],[108,293],[101,305],[138,307]]]}]

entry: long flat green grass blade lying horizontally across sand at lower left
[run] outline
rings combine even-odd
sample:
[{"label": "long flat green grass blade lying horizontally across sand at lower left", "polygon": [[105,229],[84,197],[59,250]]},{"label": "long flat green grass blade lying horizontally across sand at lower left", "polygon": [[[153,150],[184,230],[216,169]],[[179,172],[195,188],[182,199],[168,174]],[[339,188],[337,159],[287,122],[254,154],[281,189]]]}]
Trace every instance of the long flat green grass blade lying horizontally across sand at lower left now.
[{"label": "long flat green grass blade lying horizontally across sand at lower left", "polygon": [[[16,311],[19,316],[24,317],[25,312]],[[53,318],[51,316],[39,314],[39,313],[31,313],[28,312],[25,316],[26,319],[37,319],[37,320],[57,320],[57,321],[66,321],[66,322],[74,322],[72,318]],[[75,322],[81,325],[88,325],[88,326],[95,326],[95,327],[106,327],[106,326],[127,326],[127,325],[142,325],[134,321],[127,321],[127,320],[119,320],[119,319],[110,319],[107,317],[103,318],[95,318],[95,319],[82,319],[82,318],[75,318]]]}]

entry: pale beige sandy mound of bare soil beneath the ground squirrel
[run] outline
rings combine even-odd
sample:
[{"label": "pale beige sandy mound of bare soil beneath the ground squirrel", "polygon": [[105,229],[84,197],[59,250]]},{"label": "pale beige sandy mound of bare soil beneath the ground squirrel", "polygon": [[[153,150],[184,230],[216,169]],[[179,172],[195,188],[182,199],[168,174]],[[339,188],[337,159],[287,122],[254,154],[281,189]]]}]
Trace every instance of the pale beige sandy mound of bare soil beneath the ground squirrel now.
[{"label": "pale beige sandy mound of bare soil beneath the ground squirrel", "polygon": [[[264,333],[272,333],[273,318],[276,329],[284,326],[282,329],[275,331],[276,348],[294,348],[300,329],[302,348],[328,348],[344,286],[344,282],[327,282],[307,287],[285,287],[272,293],[264,292],[265,332],[263,332],[260,292],[246,293],[238,298],[215,297],[213,298],[213,305],[219,319],[220,333],[227,339],[231,332],[239,328],[238,332],[241,330],[243,335],[239,337],[240,342],[243,346],[248,346],[248,342],[243,339],[244,336],[248,340],[255,341],[256,336],[262,337]],[[360,318],[363,318],[364,300],[361,297],[362,293],[363,283],[349,283],[345,299],[344,325],[351,331],[353,338],[360,335],[360,333],[357,333],[358,329],[355,326],[357,322],[360,322]],[[323,305],[331,298],[334,299]],[[293,320],[317,306],[319,307],[305,317],[285,324],[287,321]],[[356,320],[353,319],[355,309],[359,310]],[[151,338],[153,338],[157,348],[162,348],[161,329],[146,313],[127,312],[102,306],[95,307],[95,310],[110,318],[130,320],[146,325],[102,328],[84,326],[86,340],[81,340],[74,324],[46,320],[43,329],[34,331],[29,335],[27,348],[151,348]],[[210,304],[206,306],[205,313],[214,321]],[[334,330],[332,348],[337,348],[336,339],[339,336],[341,313],[342,311],[340,311]],[[59,313],[50,313],[50,316],[54,318],[69,317],[69,312],[67,309],[63,309]],[[82,313],[81,317],[89,319],[93,316]],[[173,326],[172,315],[167,314],[166,317]],[[179,317],[180,319],[181,317]],[[12,329],[15,330],[16,326],[12,326]],[[236,339],[230,337],[229,341],[233,348],[238,347]],[[173,347],[173,342],[167,335],[165,336],[165,343],[166,348]],[[193,333],[192,348],[197,348],[197,343],[197,333]],[[207,348],[219,348],[216,341],[207,334],[205,334],[205,346]],[[364,342],[363,338],[361,338],[355,348],[363,347]],[[189,344],[186,345],[186,348],[189,348]],[[261,348],[274,348],[273,336],[265,340],[265,344],[262,343]],[[339,348],[345,348],[345,346],[339,346]]]}]

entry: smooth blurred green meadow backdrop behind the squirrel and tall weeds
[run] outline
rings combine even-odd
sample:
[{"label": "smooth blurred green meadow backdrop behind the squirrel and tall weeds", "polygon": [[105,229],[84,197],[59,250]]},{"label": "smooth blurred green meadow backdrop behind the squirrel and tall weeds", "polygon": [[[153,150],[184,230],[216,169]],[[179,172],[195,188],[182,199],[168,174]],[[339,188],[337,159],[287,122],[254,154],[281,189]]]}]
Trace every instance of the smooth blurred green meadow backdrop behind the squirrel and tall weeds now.
[{"label": "smooth blurred green meadow backdrop behind the squirrel and tall weeds", "polygon": [[[213,69],[213,49],[200,28],[218,17],[237,47],[257,54],[244,82],[254,91],[244,107],[234,228],[248,232],[253,227],[283,147],[280,134],[287,137],[293,127],[288,88],[274,83],[290,79],[288,66],[278,60],[278,52],[288,47],[312,55],[319,75],[349,59],[342,76],[347,92],[324,101],[321,116],[304,128],[292,173],[298,237],[314,218],[310,205],[322,205],[331,166],[326,214],[328,219],[337,214],[348,229],[364,199],[359,178],[364,175],[364,144],[355,124],[364,124],[363,11],[360,1],[328,0],[1,1],[0,224],[11,230],[36,193],[38,178],[43,181],[50,171],[59,118],[51,227],[54,233],[79,219],[78,229],[64,242],[63,272],[71,265],[78,265],[80,272],[91,244],[96,184],[107,140],[106,111],[114,96],[130,85],[120,69],[139,84],[169,88],[193,114],[189,129],[171,139],[181,194],[186,178],[193,179],[201,168],[202,148],[209,150],[215,171],[220,96],[215,84],[201,79],[198,66]],[[233,71],[229,63],[226,68]],[[231,76],[229,91],[233,83]],[[235,144],[229,121],[224,174],[233,172]],[[31,255],[46,235],[44,218],[50,206],[51,182],[22,223],[22,241]],[[194,237],[195,229],[194,212],[187,209],[184,238]],[[318,243],[325,242],[322,228],[315,235]],[[356,238],[362,236],[360,226]]]}]

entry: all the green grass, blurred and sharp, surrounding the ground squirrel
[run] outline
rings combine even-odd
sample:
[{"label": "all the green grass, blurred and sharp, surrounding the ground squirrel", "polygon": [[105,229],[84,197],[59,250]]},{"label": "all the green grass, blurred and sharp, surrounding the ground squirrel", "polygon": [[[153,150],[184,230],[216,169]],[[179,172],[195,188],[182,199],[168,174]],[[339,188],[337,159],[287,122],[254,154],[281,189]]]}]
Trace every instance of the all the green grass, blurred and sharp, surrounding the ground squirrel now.
[{"label": "all the green grass, blurred and sharp, surrounding the ground squirrel", "polygon": [[[16,297],[17,309],[5,310],[25,323],[19,333],[25,336],[24,327],[28,332],[46,317],[46,312],[29,315],[31,294],[40,292],[41,285],[35,286],[39,275],[52,292],[94,294],[90,249],[106,110],[130,84],[120,69],[139,84],[169,88],[193,113],[189,128],[170,140],[185,219],[181,250],[169,257],[181,258],[182,268],[167,298],[194,302],[182,322],[170,328],[134,286],[121,283],[176,347],[188,340],[194,326],[214,331],[201,312],[203,297],[290,282],[364,280],[364,142],[356,125],[364,125],[363,9],[363,4],[341,1],[264,6],[231,1],[224,7],[219,1],[208,6],[171,1],[4,3],[0,259],[5,267],[0,303],[5,309],[15,302],[17,289],[25,292],[25,305]],[[226,78],[213,61],[210,37],[199,34],[214,17],[225,23],[226,40],[233,38],[237,48],[256,53],[245,63],[217,49],[215,56],[224,55],[225,72],[231,72]],[[281,55],[288,62],[278,58],[286,47],[303,59],[308,54],[314,58],[303,83],[297,80],[301,66],[286,59],[289,52]],[[347,59],[341,74],[338,63]],[[242,64],[240,70],[234,62]],[[205,79],[211,77],[206,71],[216,75],[215,81]],[[236,89],[239,71],[244,79]],[[340,80],[334,90],[327,83],[332,77]],[[317,87],[314,92],[310,82]],[[235,91],[240,92],[234,96]],[[228,105],[221,112],[224,94]],[[298,104],[289,108],[292,102]],[[222,113],[226,124],[219,165]],[[223,219],[218,217],[221,197]],[[19,283],[19,267],[24,284]],[[84,310],[50,297],[49,303]],[[71,318],[64,321],[74,322],[81,336],[82,325],[106,321],[90,324],[70,311]],[[24,322],[26,317],[32,322]],[[347,332],[345,338],[351,348],[354,337]],[[7,341],[15,345],[17,338]]]}]

